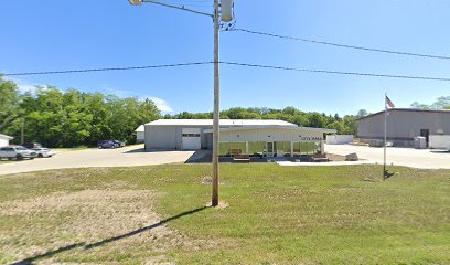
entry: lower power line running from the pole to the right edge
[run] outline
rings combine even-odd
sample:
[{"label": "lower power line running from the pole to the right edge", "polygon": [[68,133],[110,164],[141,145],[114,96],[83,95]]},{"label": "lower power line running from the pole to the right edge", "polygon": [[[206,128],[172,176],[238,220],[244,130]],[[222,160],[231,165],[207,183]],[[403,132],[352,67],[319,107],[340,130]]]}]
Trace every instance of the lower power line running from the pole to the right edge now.
[{"label": "lower power line running from the pole to the right edge", "polygon": [[329,71],[329,70],[311,70],[311,68],[296,68],[286,66],[272,66],[261,64],[248,64],[248,63],[235,63],[235,62],[221,62],[221,64],[258,67],[258,68],[271,68],[281,71],[296,71],[296,72],[309,72],[309,73],[322,73],[322,74],[336,74],[336,75],[355,75],[355,76],[369,76],[369,77],[386,77],[386,78],[401,78],[401,80],[420,80],[420,81],[442,81],[450,82],[448,77],[428,77],[428,76],[410,76],[410,75],[392,75],[392,74],[373,74],[373,73],[358,73],[358,72],[342,72],[342,71]]}]

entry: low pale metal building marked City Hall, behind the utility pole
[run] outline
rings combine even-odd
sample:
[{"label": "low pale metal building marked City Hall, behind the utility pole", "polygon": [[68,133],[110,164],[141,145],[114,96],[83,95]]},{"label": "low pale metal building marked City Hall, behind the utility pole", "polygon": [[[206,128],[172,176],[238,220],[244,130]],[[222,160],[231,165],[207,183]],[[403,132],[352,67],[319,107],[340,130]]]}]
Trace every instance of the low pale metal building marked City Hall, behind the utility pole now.
[{"label": "low pale metal building marked City Hall, behind the utility pole", "polygon": [[[333,129],[298,127],[283,120],[221,119],[219,155],[283,157],[323,153]],[[159,119],[144,125],[146,149],[212,149],[212,119]]]}]

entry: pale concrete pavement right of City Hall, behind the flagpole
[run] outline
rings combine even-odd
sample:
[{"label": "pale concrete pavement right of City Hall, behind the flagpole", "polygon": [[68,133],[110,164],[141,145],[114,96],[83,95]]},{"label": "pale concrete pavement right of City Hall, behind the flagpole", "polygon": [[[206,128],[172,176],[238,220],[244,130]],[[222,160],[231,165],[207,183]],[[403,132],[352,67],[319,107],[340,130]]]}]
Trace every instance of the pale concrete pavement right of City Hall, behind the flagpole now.
[{"label": "pale concrete pavement right of City Hall, behind the flagpole", "polygon": [[[353,145],[325,145],[325,151],[328,153],[342,156],[356,152],[360,159],[364,159],[367,163],[383,163],[383,148]],[[450,152],[388,147],[387,163],[421,169],[450,169]]]}]

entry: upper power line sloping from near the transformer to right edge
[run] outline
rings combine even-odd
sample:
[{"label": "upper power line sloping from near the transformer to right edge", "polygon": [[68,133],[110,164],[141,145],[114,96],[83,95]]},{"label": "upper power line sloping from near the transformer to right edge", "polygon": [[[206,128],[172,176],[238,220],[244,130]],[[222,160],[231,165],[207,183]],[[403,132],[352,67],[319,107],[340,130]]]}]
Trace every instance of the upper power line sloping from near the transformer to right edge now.
[{"label": "upper power line sloping from near the transformer to right edge", "polygon": [[384,50],[384,49],[377,49],[377,47],[365,47],[365,46],[356,46],[356,45],[349,45],[349,44],[339,44],[339,43],[333,43],[333,42],[318,41],[313,39],[304,39],[304,38],[297,38],[297,36],[286,36],[286,35],[246,30],[246,29],[231,29],[229,31],[240,31],[240,32],[246,32],[250,34],[266,35],[266,36],[279,38],[279,39],[285,39],[285,40],[301,41],[301,42],[307,42],[307,43],[322,44],[322,45],[344,47],[344,49],[353,49],[353,50],[360,50],[360,51],[366,51],[366,52],[379,52],[379,53],[389,53],[389,54],[397,54],[397,55],[405,55],[405,56],[450,60],[450,56],[446,56],[446,55],[411,53],[411,52]]}]

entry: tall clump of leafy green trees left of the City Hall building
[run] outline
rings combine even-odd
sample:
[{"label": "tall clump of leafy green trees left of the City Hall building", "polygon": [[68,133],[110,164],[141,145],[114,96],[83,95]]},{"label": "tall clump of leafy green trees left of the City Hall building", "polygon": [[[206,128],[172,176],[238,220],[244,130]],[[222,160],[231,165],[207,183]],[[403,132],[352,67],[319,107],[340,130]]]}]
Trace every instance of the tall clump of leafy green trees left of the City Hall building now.
[{"label": "tall clump of leafy green trees left of the City Hall building", "polygon": [[36,87],[35,93],[20,94],[13,82],[0,80],[0,131],[21,141],[47,147],[93,146],[98,140],[117,139],[135,144],[133,131],[142,124],[160,118],[154,103],[119,98],[77,89]]}]

